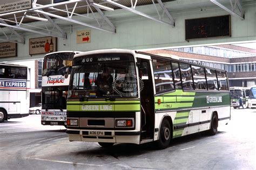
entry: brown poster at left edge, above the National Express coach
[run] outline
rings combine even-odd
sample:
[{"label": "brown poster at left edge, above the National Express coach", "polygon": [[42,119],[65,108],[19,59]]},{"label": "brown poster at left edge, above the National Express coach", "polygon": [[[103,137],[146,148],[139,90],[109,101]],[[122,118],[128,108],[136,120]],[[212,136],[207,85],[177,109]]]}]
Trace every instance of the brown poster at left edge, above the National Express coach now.
[{"label": "brown poster at left edge, above the National Express coach", "polygon": [[3,42],[0,43],[0,58],[17,56],[17,43]]}]

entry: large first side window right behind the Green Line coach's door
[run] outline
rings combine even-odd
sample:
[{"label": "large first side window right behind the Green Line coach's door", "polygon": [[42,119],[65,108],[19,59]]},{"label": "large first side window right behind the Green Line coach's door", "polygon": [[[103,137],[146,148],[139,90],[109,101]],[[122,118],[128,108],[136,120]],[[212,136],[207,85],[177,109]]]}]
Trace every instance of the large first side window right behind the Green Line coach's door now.
[{"label": "large first side window right behind the Green Line coach's door", "polygon": [[159,94],[174,90],[171,62],[168,60],[152,58],[152,65],[156,93]]}]

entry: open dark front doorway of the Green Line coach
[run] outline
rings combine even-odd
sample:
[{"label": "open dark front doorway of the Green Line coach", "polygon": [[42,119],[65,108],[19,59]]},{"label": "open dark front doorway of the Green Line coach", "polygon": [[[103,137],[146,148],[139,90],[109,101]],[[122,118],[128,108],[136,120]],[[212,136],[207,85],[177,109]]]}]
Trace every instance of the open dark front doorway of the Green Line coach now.
[{"label": "open dark front doorway of the Green Line coach", "polygon": [[140,79],[140,114],[142,131],[141,143],[153,139],[154,132],[154,94],[150,60],[138,59]]}]

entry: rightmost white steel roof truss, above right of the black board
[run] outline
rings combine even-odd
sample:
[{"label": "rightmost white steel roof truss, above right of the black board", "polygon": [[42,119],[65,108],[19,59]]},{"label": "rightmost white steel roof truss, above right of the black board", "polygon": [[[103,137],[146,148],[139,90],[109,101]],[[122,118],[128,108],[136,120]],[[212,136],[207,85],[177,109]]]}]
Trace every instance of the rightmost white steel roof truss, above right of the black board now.
[{"label": "rightmost white steel roof truss, above right of the black board", "polygon": [[[227,12],[231,13],[231,15],[239,17],[241,20],[245,19],[245,13],[244,10],[242,10],[242,6],[239,2],[239,0],[230,0],[231,9],[228,9],[223,4],[219,3],[217,0],[210,0],[212,3],[218,5],[220,8],[226,10]],[[234,4],[233,4],[234,3]],[[235,12],[235,9],[238,8],[239,13]]]}]

